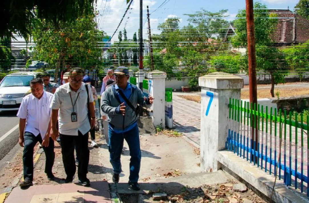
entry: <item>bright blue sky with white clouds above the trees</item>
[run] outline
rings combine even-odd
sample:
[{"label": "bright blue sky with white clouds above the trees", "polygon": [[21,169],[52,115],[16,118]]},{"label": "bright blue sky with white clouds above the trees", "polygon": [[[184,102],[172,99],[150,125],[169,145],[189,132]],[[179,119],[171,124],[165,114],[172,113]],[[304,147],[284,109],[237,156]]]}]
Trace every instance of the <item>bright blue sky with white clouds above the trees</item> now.
[{"label": "bright blue sky with white clouds above the trees", "polygon": [[[257,1],[254,1],[257,2]],[[288,6],[293,10],[298,0],[260,0],[271,9],[287,9]],[[163,3],[163,5],[162,5]],[[146,22],[146,6],[149,6],[150,27],[152,34],[159,34],[157,29],[159,23],[163,23],[168,17],[179,17],[180,27],[188,24],[187,16],[183,14],[193,14],[201,8],[215,12],[221,9],[228,9],[229,19],[235,19],[237,11],[245,9],[245,0],[143,0],[143,38],[147,39],[148,24]],[[157,9],[162,5],[159,9]],[[99,15],[96,18],[99,29],[112,36],[118,26],[122,15],[127,8],[126,0],[97,0],[96,9]],[[113,37],[112,41],[118,40],[118,32],[127,30],[129,39],[132,39],[133,33],[139,28],[139,0],[133,0],[129,12],[125,15],[121,26]],[[157,9],[157,10],[156,10]],[[25,48],[22,39],[18,39],[14,46]]]}]

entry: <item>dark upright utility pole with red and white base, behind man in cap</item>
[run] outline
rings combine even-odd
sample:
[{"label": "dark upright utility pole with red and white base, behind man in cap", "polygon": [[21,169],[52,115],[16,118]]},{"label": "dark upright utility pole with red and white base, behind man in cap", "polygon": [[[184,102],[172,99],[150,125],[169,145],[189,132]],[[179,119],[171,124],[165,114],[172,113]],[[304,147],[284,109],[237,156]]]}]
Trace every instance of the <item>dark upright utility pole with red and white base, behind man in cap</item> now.
[{"label": "dark upright utility pole with red and white base, behind man in cap", "polygon": [[139,0],[139,88],[143,89],[144,80],[144,65],[143,65],[143,0]]}]

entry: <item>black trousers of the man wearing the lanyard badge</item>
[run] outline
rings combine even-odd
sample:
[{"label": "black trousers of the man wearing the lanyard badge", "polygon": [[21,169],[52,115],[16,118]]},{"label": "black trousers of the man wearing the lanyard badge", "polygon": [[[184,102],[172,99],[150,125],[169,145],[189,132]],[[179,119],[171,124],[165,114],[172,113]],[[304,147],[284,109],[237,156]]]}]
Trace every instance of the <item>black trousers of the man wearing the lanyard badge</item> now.
[{"label": "black trousers of the man wearing the lanyard badge", "polygon": [[88,137],[88,132],[83,135],[80,131],[78,131],[78,136],[60,134],[62,161],[67,178],[73,178],[76,172],[74,158],[75,145],[78,159],[78,179],[83,181],[87,178],[90,154]]}]

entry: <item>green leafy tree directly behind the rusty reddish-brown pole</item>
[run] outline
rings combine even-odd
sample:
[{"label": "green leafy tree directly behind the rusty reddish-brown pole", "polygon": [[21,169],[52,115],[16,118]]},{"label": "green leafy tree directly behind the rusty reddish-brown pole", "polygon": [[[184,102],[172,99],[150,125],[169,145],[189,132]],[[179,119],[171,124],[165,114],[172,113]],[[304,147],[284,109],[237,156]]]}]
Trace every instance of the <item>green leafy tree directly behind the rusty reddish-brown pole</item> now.
[{"label": "green leafy tree directly behind the rusty reddish-brown pole", "polygon": [[[234,47],[247,47],[247,22],[246,11],[239,10],[234,21],[236,35],[231,39]],[[270,93],[274,97],[274,86],[284,82],[289,68],[285,61],[285,54],[278,48],[273,47],[270,35],[277,25],[277,16],[269,14],[266,5],[260,2],[254,3],[254,30],[256,43],[256,67],[269,73],[271,76]],[[244,63],[247,62],[247,63]],[[244,70],[248,72],[248,56],[241,57],[239,61]],[[245,64],[245,65],[244,65]]]}]

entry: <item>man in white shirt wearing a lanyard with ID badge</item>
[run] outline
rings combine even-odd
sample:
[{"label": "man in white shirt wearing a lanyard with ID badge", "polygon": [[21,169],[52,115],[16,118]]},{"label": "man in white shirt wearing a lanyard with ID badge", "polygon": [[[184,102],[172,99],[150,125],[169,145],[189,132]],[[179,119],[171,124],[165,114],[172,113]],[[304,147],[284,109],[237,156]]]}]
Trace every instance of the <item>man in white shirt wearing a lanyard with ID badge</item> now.
[{"label": "man in white shirt wearing a lanyard with ID badge", "polygon": [[[90,128],[95,126],[95,108],[90,85],[83,83],[83,76],[84,72],[81,68],[74,68],[70,72],[69,83],[57,88],[50,105],[52,109],[51,136],[54,140],[58,137],[57,118],[59,112],[59,135],[62,161],[66,172],[65,183],[72,182],[76,172],[74,159],[74,146],[76,144],[76,154],[79,161],[78,180],[82,185],[89,186],[90,181],[87,178],[89,164],[88,132]],[[91,115],[90,122],[87,106],[89,106]]]}]

